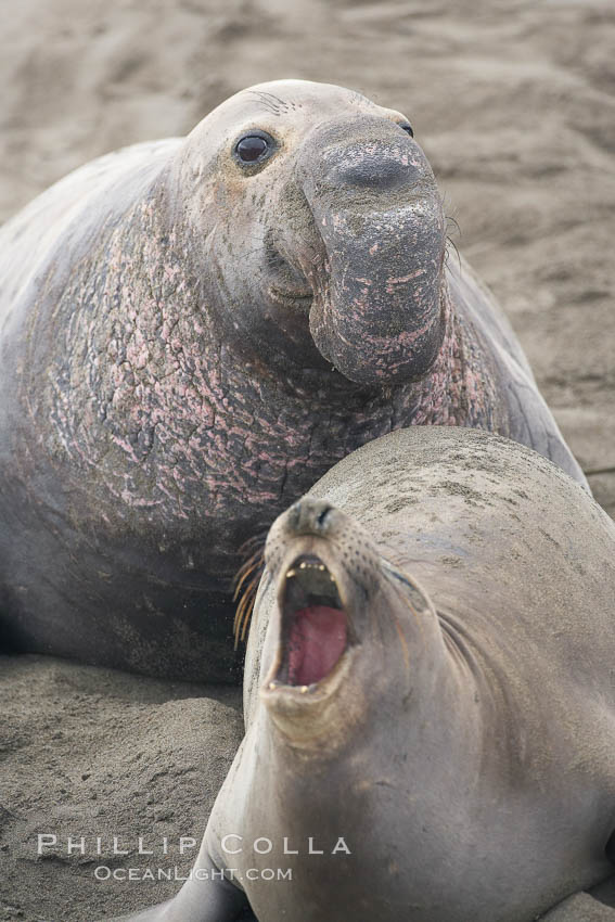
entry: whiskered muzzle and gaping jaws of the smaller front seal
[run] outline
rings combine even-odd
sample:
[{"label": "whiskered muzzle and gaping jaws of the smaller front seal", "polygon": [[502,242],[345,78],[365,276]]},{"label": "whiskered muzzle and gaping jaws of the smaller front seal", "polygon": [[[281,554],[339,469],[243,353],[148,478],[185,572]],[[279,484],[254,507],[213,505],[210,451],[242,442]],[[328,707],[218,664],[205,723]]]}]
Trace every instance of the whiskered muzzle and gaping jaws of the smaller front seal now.
[{"label": "whiskered muzzle and gaping jaws of the smaller front seal", "polygon": [[306,496],[271,527],[265,560],[277,604],[264,646],[261,713],[277,739],[320,758],[367,714],[377,553],[358,524]]}]

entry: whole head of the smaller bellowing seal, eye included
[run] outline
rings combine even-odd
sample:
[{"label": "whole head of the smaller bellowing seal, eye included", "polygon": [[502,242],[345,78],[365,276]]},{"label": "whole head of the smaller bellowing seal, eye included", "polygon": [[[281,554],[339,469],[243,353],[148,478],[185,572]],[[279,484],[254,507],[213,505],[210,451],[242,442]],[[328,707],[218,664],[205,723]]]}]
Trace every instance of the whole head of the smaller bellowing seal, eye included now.
[{"label": "whole head of the smaller bellowing seal, eye included", "polygon": [[410,669],[413,682],[433,673],[441,648],[436,615],[368,533],[325,500],[304,497],[279,516],[266,562],[277,640],[270,662],[265,654],[260,696],[287,743],[319,757],[324,743],[329,758],[366,732],[357,725],[374,706],[398,709]]}]

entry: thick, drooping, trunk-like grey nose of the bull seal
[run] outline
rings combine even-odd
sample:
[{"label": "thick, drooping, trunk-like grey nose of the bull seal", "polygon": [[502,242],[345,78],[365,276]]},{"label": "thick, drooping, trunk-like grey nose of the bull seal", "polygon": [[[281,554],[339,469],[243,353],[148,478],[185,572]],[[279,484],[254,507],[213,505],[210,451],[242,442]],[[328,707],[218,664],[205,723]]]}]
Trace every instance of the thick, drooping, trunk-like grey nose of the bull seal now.
[{"label": "thick, drooping, trunk-like grey nose of the bull seal", "polygon": [[317,349],[356,384],[424,376],[446,330],[446,230],[423,151],[390,118],[344,117],[306,137],[296,180],[318,233],[302,262]]}]

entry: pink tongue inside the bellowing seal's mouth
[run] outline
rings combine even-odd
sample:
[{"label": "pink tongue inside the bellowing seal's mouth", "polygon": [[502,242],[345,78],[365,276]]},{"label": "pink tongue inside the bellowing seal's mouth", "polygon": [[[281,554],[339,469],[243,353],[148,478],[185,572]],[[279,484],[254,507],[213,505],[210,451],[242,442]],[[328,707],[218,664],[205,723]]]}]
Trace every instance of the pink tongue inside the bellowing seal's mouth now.
[{"label": "pink tongue inside the bellowing seal's mouth", "polygon": [[328,676],[346,649],[346,615],[315,605],[295,614],[289,638],[289,683],[311,686]]}]

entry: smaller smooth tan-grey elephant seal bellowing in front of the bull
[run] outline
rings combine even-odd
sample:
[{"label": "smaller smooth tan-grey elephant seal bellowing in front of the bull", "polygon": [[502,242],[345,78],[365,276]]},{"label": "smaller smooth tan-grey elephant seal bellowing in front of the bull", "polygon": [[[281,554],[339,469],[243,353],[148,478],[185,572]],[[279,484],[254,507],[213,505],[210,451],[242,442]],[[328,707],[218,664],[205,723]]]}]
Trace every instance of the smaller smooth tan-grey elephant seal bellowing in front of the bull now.
[{"label": "smaller smooth tan-grey elephant seal bellowing in front of the bull", "polygon": [[531,922],[613,872],[615,526],[577,484],[403,430],[278,518],[266,560],[246,738],[192,879],[131,918]]}]

